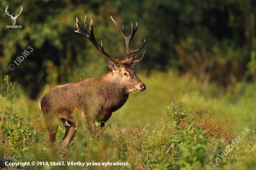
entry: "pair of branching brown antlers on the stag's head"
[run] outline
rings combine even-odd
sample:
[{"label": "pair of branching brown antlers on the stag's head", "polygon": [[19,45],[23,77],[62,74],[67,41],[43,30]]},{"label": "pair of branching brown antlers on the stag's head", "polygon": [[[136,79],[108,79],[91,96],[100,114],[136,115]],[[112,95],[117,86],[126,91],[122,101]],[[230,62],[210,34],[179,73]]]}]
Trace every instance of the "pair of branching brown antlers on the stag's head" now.
[{"label": "pair of branching brown antlers on the stag's head", "polygon": [[[110,16],[110,17],[111,17],[111,16]],[[111,17],[111,19],[113,20],[112,17]],[[113,20],[113,21],[114,21],[114,23],[115,23],[115,20]],[[115,25],[118,26],[116,23],[115,23]],[[125,36],[125,33],[122,33],[122,32],[121,32],[121,33],[122,33],[122,36],[123,36],[124,39],[126,40],[126,44],[128,43],[128,44],[126,45],[126,46],[127,46],[127,49],[129,49],[129,51],[127,51],[127,54],[126,54],[126,59],[125,59],[125,60],[122,60],[122,61],[120,61],[119,59],[115,59],[114,57],[112,57],[111,55],[109,55],[107,52],[104,51],[103,39],[102,39],[102,37],[101,37],[101,46],[99,46],[99,44],[97,43],[97,41],[96,41],[96,39],[95,39],[95,37],[94,37],[93,18],[92,18],[92,20],[91,20],[90,28],[89,28],[89,29],[88,29],[88,24],[87,24],[87,16],[85,16],[85,19],[84,19],[84,26],[85,26],[84,29],[80,26],[79,21],[78,21],[77,18],[76,18],[76,26],[77,26],[77,31],[74,31],[74,32],[80,33],[80,34],[86,36],[102,54],[104,54],[106,57],[108,57],[108,59],[111,59],[112,61],[118,63],[118,65],[119,65],[120,67],[123,66],[123,65],[125,65],[125,64],[130,65],[130,64],[132,64],[132,63],[137,63],[137,62],[141,61],[141,60],[143,59],[143,57],[144,57],[145,51],[143,52],[143,56],[142,56],[141,59],[134,61],[134,59],[137,57],[137,56],[134,56],[134,53],[140,51],[140,50],[143,48],[143,46],[145,46],[145,41],[146,41],[146,39],[144,40],[143,45],[142,45],[139,49],[137,49],[137,50],[135,50],[135,51],[131,51],[131,50],[129,49],[131,39],[132,39],[133,36],[135,35],[137,26],[136,26],[135,30],[133,29],[133,26],[132,26],[132,30],[133,30],[133,31],[132,31],[132,33],[131,33],[131,35],[130,35],[129,37],[126,37],[126,36]],[[118,26],[118,27],[119,27],[119,26]],[[119,29],[120,29],[120,28],[119,28]],[[121,31],[121,29],[120,29],[120,31]],[[123,26],[123,32],[124,32],[124,26]],[[126,38],[125,38],[125,37],[126,37]],[[131,59],[128,59],[129,55],[132,54],[132,53],[133,53],[133,57],[132,57]]]}]

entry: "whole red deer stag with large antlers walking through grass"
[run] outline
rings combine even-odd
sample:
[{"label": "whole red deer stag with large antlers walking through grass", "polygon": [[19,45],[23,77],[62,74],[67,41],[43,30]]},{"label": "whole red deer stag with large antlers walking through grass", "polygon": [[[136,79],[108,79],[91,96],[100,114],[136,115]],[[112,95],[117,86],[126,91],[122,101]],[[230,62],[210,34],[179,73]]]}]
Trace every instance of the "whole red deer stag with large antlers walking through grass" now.
[{"label": "whole red deer stag with large antlers walking through grass", "polygon": [[[145,51],[141,59],[135,60],[137,56],[134,56],[134,54],[145,46],[146,39],[140,48],[130,50],[131,40],[137,30],[137,24],[134,29],[131,21],[132,31],[129,36],[126,36],[123,22],[123,29],[121,30],[111,17],[126,42],[125,60],[120,61],[104,51],[102,37],[101,46],[98,45],[94,38],[93,18],[89,29],[86,18],[85,16],[85,29],[80,26],[76,18],[78,30],[75,32],[86,36],[108,58],[108,67],[111,70],[101,78],[88,78],[77,83],[58,85],[42,99],[41,110],[49,132],[49,143],[54,143],[59,125],[63,123],[65,126],[65,135],[61,142],[62,148],[68,147],[76,133],[76,120],[72,115],[75,109],[81,111],[82,115],[86,117],[89,130],[94,131],[96,137],[98,137],[99,133],[94,126],[94,121],[101,122],[101,127],[104,126],[112,112],[117,111],[125,104],[130,92],[146,90],[146,86],[133,71],[136,63],[143,59]],[[131,54],[133,54],[133,57],[129,59]],[[56,121],[57,119],[61,121]],[[58,122],[62,123],[59,124]]]}]

